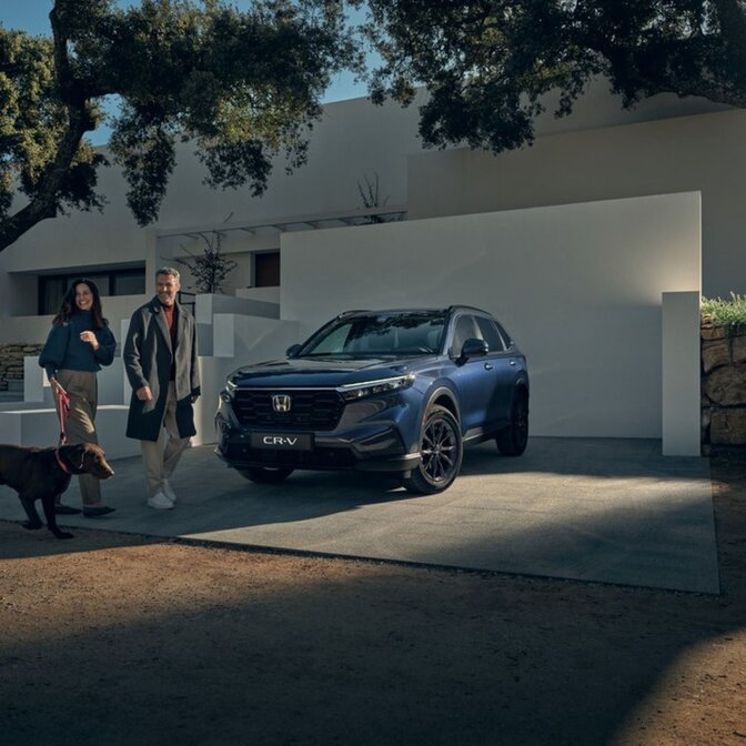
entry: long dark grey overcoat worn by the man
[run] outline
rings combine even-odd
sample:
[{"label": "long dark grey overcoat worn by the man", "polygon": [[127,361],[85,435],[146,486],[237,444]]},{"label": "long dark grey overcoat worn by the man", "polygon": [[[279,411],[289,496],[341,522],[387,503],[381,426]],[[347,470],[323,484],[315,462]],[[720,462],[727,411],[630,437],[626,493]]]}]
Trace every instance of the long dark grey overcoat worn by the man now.
[{"label": "long dark grey overcoat worn by the man", "polygon": [[[194,316],[177,303],[177,424],[179,435],[195,435],[193,400],[200,395],[200,370],[196,361]],[[132,386],[127,436],[139,441],[158,441],[169,393],[173,350],[171,334],[158,296],[140,306],[130,321],[122,353],[127,377]],[[153,399],[141,402],[134,392],[150,386]]]}]

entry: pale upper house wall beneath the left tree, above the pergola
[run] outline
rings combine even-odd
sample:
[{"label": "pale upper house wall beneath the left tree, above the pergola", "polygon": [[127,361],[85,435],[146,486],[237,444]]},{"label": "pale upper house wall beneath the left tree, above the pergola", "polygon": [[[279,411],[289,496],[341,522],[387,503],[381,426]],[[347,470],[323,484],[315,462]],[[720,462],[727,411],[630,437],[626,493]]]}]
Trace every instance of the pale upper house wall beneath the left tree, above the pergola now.
[{"label": "pale upper house wall beneath the left tree, above the pergola", "polygon": [[[147,261],[152,294],[152,275],[158,266],[172,263],[174,254],[188,258],[185,250],[203,248],[199,239],[190,241],[182,234],[169,240],[160,238],[161,233],[170,229],[188,231],[190,226],[219,229],[229,218],[231,223],[271,222],[354,211],[363,206],[357,182],[376,173],[381,201],[401,204],[406,196],[406,157],[416,150],[415,108],[404,110],[393,103],[374,107],[364,99],[331,103],[324,107],[311,133],[308,163],[288,174],[285,161],[279,158],[265,194],[254,198],[248,186],[206,188],[202,183],[205,171],[193,145],[180,145],[160,218],[148,230],[135,223],[127,206],[128,188],[121,171],[101,169],[99,192],[107,198],[103,212],[72,212],[42,221],[0,252],[0,343],[43,342],[49,324],[31,317],[36,312],[36,275],[41,272],[84,273],[91,268]],[[107,154],[107,149],[103,152]],[[251,264],[245,252],[280,245],[276,234],[239,235],[229,234],[224,246],[226,254],[244,252],[238,256],[242,266],[225,284],[229,291],[250,284]],[[185,280],[191,284],[188,272]],[[117,323],[117,314],[110,311],[108,301],[104,303],[104,312]]]}]

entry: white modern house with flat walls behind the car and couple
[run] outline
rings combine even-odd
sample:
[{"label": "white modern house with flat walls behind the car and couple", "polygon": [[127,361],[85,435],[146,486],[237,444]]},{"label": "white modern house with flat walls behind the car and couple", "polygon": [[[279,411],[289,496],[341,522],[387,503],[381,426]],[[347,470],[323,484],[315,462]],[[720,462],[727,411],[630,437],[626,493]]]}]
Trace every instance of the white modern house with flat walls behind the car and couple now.
[{"label": "white modern house with flat walls behind the car and couple", "polygon": [[[664,453],[693,455],[699,295],[746,288],[744,172],[746,112],[702,100],[624,112],[592,87],[572,117],[538,122],[533,148],[498,157],[423,150],[415,109],[333,103],[309,163],[292,175],[279,163],[261,199],[205,188],[184,151],[158,224],[142,230],[121,174],[103,171],[104,213],[48,221],[0,254],[0,343],[42,342],[80,274],[99,282],[121,335],[155,269],[220,233],[238,268],[225,295],[196,298],[201,442],[213,440],[225,373],[282,354],[340,311],[467,303],[526,352],[533,434],[662,438]],[[376,179],[379,204],[365,208],[359,184]],[[33,365],[28,409],[48,401]],[[123,409],[119,367],[104,390]]]}]

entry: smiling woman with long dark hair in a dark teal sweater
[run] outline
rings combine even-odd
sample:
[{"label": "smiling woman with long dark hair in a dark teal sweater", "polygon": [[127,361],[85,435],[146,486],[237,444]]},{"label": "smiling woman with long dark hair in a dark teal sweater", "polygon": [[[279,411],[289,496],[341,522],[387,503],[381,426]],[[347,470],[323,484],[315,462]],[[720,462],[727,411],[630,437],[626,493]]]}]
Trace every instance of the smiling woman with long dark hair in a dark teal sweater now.
[{"label": "smiling woman with long dark hair in a dark teal sweater", "polygon": [[[60,396],[70,397],[70,413],[64,420],[65,442],[98,443],[95,434],[97,380],[101,365],[111,365],[117,341],[101,311],[99,289],[91,280],[75,280],[62,299],[52,320],[39,364],[47,371],[58,412]],[[83,515],[97,518],[112,513],[101,502],[101,483],[90,474],[78,476]],[[80,513],[58,502],[56,513]]]}]

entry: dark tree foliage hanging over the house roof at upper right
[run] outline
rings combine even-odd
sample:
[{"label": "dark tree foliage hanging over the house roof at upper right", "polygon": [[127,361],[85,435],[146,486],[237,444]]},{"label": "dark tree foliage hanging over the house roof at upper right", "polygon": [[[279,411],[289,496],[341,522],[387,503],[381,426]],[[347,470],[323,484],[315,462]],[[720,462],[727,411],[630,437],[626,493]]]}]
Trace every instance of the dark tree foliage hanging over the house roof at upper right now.
[{"label": "dark tree foliage hanging over the house roof at upper right", "polygon": [[542,97],[568,114],[603,75],[625,108],[673,92],[746,107],[745,0],[369,0],[383,63],[371,95],[409,104],[425,85],[426,144],[531,144]]}]

